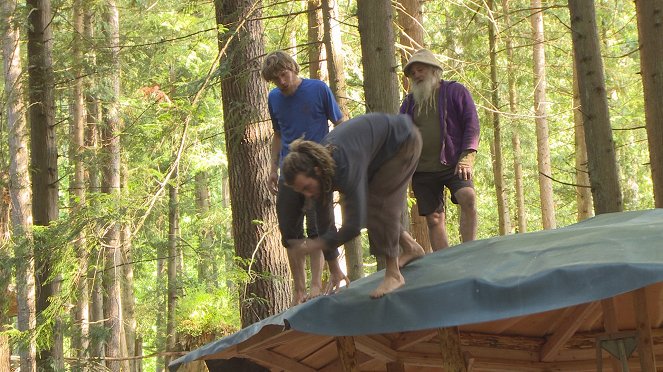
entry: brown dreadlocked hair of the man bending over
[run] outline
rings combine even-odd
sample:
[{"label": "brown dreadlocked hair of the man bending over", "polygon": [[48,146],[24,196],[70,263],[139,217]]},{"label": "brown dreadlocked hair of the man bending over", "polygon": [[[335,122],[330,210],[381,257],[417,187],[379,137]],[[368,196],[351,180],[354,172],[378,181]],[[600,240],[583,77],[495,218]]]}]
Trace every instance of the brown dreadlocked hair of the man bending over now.
[{"label": "brown dreadlocked hair of the man bending over", "polygon": [[[290,143],[290,153],[283,159],[281,172],[285,183],[292,185],[298,174],[315,178],[320,182],[321,198],[328,197],[333,190],[336,162],[331,156],[332,148],[317,142],[296,139]],[[317,171],[316,171],[317,169]]]}]

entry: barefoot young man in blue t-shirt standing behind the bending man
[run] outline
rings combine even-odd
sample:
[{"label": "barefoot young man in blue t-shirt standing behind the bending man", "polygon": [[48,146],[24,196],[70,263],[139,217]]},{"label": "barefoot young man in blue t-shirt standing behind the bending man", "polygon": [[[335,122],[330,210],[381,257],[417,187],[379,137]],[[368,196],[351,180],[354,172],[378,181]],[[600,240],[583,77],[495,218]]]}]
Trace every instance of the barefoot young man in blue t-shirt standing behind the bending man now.
[{"label": "barefoot young man in blue t-shirt standing behind the bending man", "polygon": [[[281,241],[286,248],[304,238],[305,214],[306,235],[309,238],[336,228],[331,206],[310,208],[306,198],[286,187],[282,177],[279,177],[281,163],[288,155],[292,141],[303,138],[320,142],[329,133],[329,121],[339,124],[343,120],[341,110],[327,84],[320,80],[301,78],[298,74],[299,65],[282,50],[268,54],[262,64],[262,77],[276,85],[268,97],[269,115],[274,129],[268,186],[276,195]],[[287,251],[294,281],[292,305],[319,296],[322,293],[324,265],[322,253],[318,251],[310,254],[311,285],[310,292],[307,293],[306,257],[293,255],[291,249]],[[337,265],[330,267],[330,270],[332,276],[342,275],[338,272],[340,269]]]}]

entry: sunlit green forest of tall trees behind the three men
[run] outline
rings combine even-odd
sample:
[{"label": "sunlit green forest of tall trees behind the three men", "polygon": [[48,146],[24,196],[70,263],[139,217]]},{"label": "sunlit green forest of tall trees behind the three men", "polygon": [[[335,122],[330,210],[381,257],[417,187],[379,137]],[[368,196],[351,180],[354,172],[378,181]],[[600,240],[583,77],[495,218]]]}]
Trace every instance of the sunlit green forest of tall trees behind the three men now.
[{"label": "sunlit green forest of tall trees behind the three men", "polygon": [[0,4],[0,371],[163,371],[288,308],[273,50],[347,118],[396,113],[434,52],[479,111],[479,239],[663,207],[663,0]]}]

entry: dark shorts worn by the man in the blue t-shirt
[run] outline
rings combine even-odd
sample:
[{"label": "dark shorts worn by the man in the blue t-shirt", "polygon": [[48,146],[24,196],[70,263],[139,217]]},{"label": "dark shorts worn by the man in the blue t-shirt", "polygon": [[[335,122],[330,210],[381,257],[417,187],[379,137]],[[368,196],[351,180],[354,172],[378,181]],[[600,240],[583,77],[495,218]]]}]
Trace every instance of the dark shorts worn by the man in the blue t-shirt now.
[{"label": "dark shorts worn by the man in the blue t-shirt", "polygon": [[[304,216],[306,216],[306,237],[317,238],[330,229],[335,229],[333,204],[329,207],[320,206],[320,203],[307,203],[304,195],[296,192],[279,180],[278,194],[276,195],[276,216],[281,231],[281,243],[288,248],[288,240],[304,238]],[[323,252],[325,259],[338,256],[338,250]]]}]

